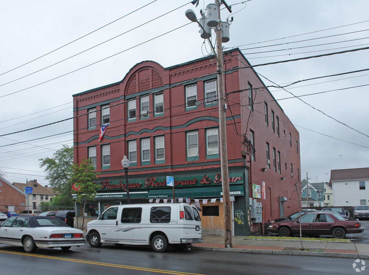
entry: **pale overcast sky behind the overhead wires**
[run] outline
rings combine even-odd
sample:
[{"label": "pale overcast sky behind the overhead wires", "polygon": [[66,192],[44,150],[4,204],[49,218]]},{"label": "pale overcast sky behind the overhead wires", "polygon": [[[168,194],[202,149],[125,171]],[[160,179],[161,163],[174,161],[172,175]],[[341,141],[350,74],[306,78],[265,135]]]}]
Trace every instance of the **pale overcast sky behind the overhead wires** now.
[{"label": "pale overcast sky behind the overhead wires", "polygon": [[[144,60],[170,67],[207,56],[210,46],[184,13],[191,8],[200,18],[210,3],[0,1],[0,172],[10,182],[47,185],[39,159],[73,145],[72,95],[121,81]],[[234,20],[223,47],[238,47],[251,65],[369,46],[367,0],[227,4],[232,13],[222,5],[222,21]],[[255,67],[300,133],[301,177],[310,182],[369,167],[369,70],[352,73],[368,69],[368,54]],[[292,84],[299,80],[307,81]]]}]

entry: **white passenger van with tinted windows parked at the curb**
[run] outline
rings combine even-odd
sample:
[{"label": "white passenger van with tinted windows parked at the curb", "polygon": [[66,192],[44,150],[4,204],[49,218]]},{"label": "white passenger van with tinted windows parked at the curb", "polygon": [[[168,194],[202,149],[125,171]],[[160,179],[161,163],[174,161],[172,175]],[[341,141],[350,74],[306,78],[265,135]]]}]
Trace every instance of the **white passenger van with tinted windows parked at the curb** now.
[{"label": "white passenger van with tinted windows parked at the curb", "polygon": [[183,249],[202,243],[201,220],[194,205],[188,203],[146,203],[110,206],[97,220],[87,223],[90,246],[151,245],[164,252],[169,244]]}]

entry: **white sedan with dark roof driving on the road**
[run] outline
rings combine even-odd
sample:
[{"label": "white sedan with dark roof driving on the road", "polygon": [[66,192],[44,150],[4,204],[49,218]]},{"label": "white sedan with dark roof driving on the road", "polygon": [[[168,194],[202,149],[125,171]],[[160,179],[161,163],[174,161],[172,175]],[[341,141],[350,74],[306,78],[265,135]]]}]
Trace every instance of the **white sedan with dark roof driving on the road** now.
[{"label": "white sedan with dark roof driving on the road", "polygon": [[0,225],[0,244],[23,246],[27,253],[38,247],[83,246],[83,231],[70,228],[60,219],[44,216],[13,216]]}]

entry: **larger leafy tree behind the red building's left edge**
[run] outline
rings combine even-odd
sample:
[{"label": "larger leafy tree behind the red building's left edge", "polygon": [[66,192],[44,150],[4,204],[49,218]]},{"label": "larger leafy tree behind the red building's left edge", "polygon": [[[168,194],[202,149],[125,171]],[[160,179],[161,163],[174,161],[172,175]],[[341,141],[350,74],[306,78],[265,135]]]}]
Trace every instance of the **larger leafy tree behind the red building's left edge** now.
[{"label": "larger leafy tree behind the red building's left edge", "polygon": [[60,206],[73,206],[72,189],[68,182],[69,174],[72,173],[73,147],[63,145],[51,158],[39,159],[40,167],[45,167],[46,177],[52,191],[56,195],[54,204]]}]

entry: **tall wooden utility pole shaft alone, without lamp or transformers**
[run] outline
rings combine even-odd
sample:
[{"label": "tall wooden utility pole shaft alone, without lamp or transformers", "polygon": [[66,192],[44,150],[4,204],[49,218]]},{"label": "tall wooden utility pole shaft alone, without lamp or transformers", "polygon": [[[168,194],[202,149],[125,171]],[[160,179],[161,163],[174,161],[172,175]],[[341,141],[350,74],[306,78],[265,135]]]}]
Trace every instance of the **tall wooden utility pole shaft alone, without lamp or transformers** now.
[{"label": "tall wooden utility pole shaft alone, without lamp or transformers", "polygon": [[218,82],[218,106],[219,106],[219,138],[220,138],[220,165],[222,174],[223,206],[224,206],[224,245],[232,247],[232,213],[230,201],[230,187],[228,175],[228,155],[227,155],[227,131],[225,127],[225,91],[223,79],[223,48],[222,48],[222,29],[220,20],[219,0],[215,0],[218,5],[218,28],[215,30],[217,35],[217,82]]}]

